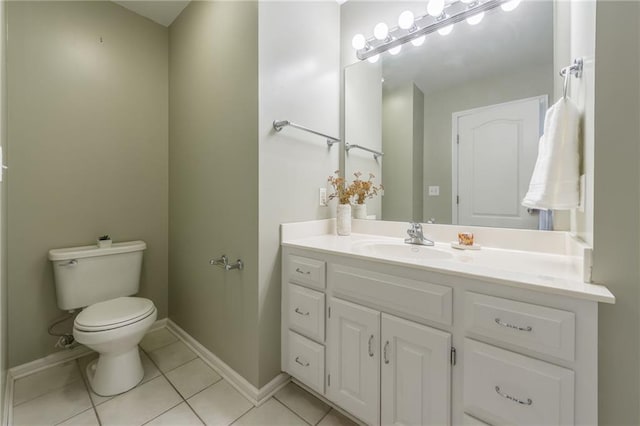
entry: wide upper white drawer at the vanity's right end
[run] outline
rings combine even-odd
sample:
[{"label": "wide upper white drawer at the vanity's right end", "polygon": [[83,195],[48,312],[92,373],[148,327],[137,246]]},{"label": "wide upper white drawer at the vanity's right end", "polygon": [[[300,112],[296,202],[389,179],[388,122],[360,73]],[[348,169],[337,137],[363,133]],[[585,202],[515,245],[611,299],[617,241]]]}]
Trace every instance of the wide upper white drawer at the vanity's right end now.
[{"label": "wide upper white drawer at the vanity's right end", "polygon": [[467,292],[467,333],[489,337],[564,360],[575,359],[575,314]]}]

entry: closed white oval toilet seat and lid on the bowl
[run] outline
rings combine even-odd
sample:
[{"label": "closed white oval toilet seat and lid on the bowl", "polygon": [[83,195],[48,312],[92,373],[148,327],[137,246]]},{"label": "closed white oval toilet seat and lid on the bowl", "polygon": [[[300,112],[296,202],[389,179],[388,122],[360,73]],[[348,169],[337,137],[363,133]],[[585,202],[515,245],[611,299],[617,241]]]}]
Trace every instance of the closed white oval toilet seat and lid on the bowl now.
[{"label": "closed white oval toilet seat and lid on the bowl", "polygon": [[119,297],[85,308],[76,317],[74,328],[85,332],[113,330],[141,321],[155,310],[149,299]]}]

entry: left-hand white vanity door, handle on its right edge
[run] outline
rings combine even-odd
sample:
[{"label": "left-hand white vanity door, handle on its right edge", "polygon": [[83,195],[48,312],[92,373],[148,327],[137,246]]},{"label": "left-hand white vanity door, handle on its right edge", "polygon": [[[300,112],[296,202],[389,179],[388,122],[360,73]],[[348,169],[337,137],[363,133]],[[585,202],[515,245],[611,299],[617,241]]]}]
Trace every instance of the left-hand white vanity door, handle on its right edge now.
[{"label": "left-hand white vanity door, handle on its right edge", "polygon": [[380,312],[331,299],[327,397],[368,424],[380,424]]}]

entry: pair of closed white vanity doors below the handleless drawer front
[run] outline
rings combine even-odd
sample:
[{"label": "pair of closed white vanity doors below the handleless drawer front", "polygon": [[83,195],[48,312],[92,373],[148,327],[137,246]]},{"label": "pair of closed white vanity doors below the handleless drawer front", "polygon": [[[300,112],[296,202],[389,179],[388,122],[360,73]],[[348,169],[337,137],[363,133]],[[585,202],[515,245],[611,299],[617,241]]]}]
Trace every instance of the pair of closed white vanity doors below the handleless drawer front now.
[{"label": "pair of closed white vanity doors below the handleless drawer front", "polygon": [[451,335],[338,298],[327,397],[369,424],[448,424]]}]

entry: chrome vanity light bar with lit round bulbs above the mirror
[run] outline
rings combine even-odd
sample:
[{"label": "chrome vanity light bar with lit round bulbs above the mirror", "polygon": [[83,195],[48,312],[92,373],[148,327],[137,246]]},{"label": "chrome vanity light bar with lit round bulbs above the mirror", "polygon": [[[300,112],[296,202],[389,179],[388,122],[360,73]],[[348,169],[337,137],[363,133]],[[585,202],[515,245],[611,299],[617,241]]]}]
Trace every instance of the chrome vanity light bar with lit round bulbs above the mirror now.
[{"label": "chrome vanity light bar with lit round bulbs above the mirror", "polygon": [[373,29],[373,37],[367,39],[362,34],[356,34],[351,44],[356,49],[358,59],[374,63],[381,53],[388,51],[396,55],[407,42],[420,46],[427,34],[437,31],[441,35],[447,35],[453,30],[454,24],[464,20],[470,25],[477,25],[486,11],[502,6],[508,12],[515,9],[520,1],[429,0],[425,15],[415,17],[411,11],[404,11],[398,18],[397,27],[389,28],[387,24],[380,22]]}]

